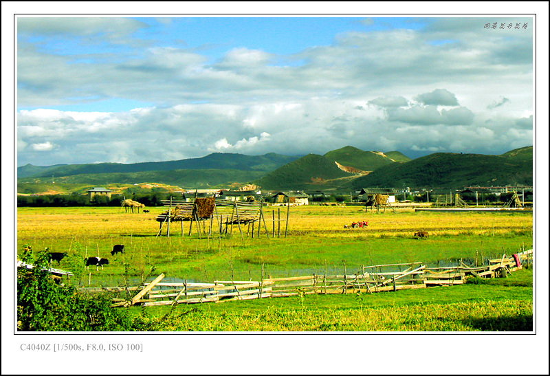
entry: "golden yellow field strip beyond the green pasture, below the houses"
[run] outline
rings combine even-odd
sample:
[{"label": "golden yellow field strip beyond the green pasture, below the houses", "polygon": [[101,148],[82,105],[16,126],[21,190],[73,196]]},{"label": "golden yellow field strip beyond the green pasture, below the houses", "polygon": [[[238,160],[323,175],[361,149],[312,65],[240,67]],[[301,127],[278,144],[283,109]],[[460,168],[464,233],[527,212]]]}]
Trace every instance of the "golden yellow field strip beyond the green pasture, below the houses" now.
[{"label": "golden yellow field strip beyond the green pasture, below the houses", "polygon": [[[19,240],[52,237],[102,239],[120,234],[155,235],[159,229],[155,217],[161,211],[162,208],[151,208],[148,214],[130,214],[122,212],[120,208],[19,208],[17,234]],[[272,232],[272,211],[277,219],[278,208],[268,207],[264,211],[269,232]],[[281,231],[284,233],[287,208],[281,208],[280,212],[283,219]],[[368,221],[369,226],[344,229],[344,225],[351,225],[353,221]],[[188,225],[189,223],[184,223],[186,229]],[[278,223],[275,228],[277,232]],[[318,236],[412,236],[418,230],[428,231],[430,235],[507,234],[511,231],[525,232],[532,229],[531,213],[433,213],[401,209],[395,213],[386,210],[384,214],[377,214],[353,206],[300,206],[290,208],[289,215],[289,233]],[[234,231],[238,232],[238,229],[235,227]],[[265,232],[263,224],[261,232]],[[171,233],[179,235],[181,224],[172,223]]]}]

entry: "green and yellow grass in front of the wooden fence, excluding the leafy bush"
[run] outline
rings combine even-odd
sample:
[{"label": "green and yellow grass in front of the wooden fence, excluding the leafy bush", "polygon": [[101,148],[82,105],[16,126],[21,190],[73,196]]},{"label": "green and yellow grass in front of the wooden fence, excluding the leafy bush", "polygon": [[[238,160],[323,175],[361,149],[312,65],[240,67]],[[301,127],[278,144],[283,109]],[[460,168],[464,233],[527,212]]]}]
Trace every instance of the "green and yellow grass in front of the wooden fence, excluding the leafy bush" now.
[{"label": "green and yellow grass in front of the wooden fence, excluding the leafy bush", "polygon": [[532,331],[532,277],[521,270],[487,285],[155,307],[146,323],[155,331]]}]

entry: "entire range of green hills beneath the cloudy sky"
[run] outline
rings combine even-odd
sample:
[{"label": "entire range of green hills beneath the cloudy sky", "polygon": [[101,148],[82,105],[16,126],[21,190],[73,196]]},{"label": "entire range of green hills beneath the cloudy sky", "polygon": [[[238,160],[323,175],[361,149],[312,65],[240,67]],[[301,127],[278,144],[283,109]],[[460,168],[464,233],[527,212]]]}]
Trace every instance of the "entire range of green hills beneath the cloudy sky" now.
[{"label": "entire range of green hills beneath the cloudy sky", "polygon": [[[93,186],[155,182],[182,188],[349,192],[366,187],[461,188],[533,184],[533,147],[502,155],[433,153],[410,159],[399,151],[344,146],[303,157],[212,153],[201,158],[135,164],[58,164],[17,168],[18,192],[83,192]],[[52,182],[55,181],[55,182]]]}]

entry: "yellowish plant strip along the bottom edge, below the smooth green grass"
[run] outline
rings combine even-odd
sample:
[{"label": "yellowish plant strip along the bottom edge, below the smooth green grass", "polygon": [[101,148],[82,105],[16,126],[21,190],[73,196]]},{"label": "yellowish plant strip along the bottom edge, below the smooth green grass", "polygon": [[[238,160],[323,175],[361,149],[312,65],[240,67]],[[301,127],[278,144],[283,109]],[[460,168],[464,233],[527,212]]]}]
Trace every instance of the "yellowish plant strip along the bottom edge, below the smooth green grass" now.
[{"label": "yellowish plant strip along the bottom edge, below the smooth green grass", "polygon": [[517,300],[240,313],[193,307],[151,323],[156,331],[532,331],[533,314],[531,302]]}]

